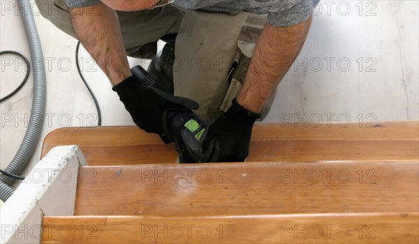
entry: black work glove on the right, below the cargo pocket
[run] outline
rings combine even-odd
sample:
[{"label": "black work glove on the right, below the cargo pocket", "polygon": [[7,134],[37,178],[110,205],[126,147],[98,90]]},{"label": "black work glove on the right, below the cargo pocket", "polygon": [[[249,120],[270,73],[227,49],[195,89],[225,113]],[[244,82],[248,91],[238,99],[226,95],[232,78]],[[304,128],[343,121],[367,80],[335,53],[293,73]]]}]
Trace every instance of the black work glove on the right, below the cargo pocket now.
[{"label": "black work glove on the right, below the cargo pocket", "polygon": [[210,124],[201,139],[210,161],[243,162],[249,154],[251,130],[260,114],[250,112],[234,99],[231,107]]}]

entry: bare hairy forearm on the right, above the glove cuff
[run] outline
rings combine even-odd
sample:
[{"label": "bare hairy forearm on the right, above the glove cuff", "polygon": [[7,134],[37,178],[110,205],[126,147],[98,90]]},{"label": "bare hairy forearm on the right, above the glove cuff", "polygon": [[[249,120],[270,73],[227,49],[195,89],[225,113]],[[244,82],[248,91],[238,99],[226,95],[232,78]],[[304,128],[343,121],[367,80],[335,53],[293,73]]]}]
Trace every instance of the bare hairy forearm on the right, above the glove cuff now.
[{"label": "bare hairy forearm on the right, above the glove cuff", "polygon": [[249,71],[237,102],[252,112],[260,112],[270,93],[287,73],[300,53],[311,17],[300,24],[275,27],[266,24],[258,40]]}]

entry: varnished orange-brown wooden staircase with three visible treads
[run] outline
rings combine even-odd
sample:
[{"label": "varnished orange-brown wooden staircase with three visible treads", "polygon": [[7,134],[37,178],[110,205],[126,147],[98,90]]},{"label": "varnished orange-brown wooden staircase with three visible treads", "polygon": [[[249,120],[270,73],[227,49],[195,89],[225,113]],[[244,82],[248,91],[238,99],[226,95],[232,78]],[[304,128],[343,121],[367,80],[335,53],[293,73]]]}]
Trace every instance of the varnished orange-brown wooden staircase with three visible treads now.
[{"label": "varnished orange-brown wooden staircase with three visible treads", "polygon": [[419,126],[256,125],[247,162],[176,164],[136,127],[61,128],[80,146],[74,216],[42,243],[418,243]]}]

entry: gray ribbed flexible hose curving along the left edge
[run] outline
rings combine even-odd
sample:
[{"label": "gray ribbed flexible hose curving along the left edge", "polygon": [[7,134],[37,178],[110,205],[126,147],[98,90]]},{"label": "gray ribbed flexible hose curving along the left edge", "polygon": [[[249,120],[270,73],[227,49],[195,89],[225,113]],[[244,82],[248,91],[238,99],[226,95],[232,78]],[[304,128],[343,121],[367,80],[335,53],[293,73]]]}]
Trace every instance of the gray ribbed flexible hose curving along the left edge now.
[{"label": "gray ribbed flexible hose curving along the left edge", "polygon": [[[29,0],[18,0],[17,2],[27,34],[29,48],[31,49],[32,70],[34,70],[34,97],[32,99],[28,128],[15,157],[5,169],[5,171],[11,174],[20,175],[24,168],[27,167],[29,160],[31,160],[39,137],[41,137],[47,100],[47,82],[41,41],[39,40],[38,31],[36,31],[34,16],[31,13],[31,2]],[[0,176],[0,199],[3,201],[6,201],[12,195],[13,189],[9,185],[14,181],[15,178],[5,175]]]}]

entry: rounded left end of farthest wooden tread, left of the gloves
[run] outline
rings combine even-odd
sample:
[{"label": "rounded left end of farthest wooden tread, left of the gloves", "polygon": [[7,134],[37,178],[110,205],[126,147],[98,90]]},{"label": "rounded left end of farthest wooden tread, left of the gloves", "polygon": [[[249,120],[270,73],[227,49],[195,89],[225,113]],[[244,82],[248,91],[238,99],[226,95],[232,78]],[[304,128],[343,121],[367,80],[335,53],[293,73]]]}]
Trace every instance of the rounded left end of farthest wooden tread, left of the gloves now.
[{"label": "rounded left end of farthest wooden tread, left of the gloves", "polygon": [[89,165],[138,165],[175,163],[174,144],[166,145],[158,135],[136,126],[59,128],[43,142],[41,158],[54,146],[78,145]]}]

